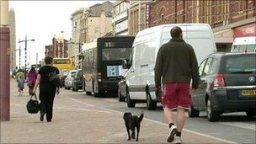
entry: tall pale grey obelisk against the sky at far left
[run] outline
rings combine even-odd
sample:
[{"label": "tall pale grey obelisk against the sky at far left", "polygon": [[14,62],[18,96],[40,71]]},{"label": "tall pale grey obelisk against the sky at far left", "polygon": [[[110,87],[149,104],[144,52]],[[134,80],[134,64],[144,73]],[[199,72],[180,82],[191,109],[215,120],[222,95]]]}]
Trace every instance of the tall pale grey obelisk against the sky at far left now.
[{"label": "tall pale grey obelisk against the sky at far left", "polygon": [[13,8],[9,11],[9,29],[10,29],[10,70],[16,69],[16,29],[15,12]]}]

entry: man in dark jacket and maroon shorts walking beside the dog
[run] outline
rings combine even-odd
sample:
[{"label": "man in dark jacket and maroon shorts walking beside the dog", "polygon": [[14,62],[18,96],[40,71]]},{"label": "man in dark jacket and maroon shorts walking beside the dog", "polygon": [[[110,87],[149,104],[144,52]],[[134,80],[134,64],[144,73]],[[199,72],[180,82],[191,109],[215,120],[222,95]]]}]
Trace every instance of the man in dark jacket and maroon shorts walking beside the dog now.
[{"label": "man in dark jacket and maroon shorts walking beside the dog", "polygon": [[[183,40],[182,29],[175,26],[170,34],[172,39],[157,53],[155,84],[157,93],[162,93],[164,115],[169,123],[167,141],[182,143],[185,109],[189,109],[191,104],[190,80],[192,78],[192,88],[198,88],[199,71],[195,51]],[[174,109],[177,110],[177,126],[173,122]]]}]

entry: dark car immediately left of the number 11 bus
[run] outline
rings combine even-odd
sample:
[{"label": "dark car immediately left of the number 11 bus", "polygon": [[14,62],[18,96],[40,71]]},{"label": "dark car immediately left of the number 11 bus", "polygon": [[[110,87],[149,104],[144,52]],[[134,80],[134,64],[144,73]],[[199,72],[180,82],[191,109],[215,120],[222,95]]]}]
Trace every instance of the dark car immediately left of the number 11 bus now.
[{"label": "dark car immediately left of the number 11 bus", "polygon": [[72,79],[72,91],[78,91],[83,89],[83,71],[79,69],[76,71],[74,78]]}]

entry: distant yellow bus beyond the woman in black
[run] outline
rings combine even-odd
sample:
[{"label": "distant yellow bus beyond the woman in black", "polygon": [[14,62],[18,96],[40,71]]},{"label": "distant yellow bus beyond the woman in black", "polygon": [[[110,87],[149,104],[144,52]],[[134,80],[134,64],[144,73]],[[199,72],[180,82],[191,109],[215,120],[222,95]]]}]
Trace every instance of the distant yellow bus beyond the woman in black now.
[{"label": "distant yellow bus beyond the woman in black", "polygon": [[74,69],[74,64],[71,58],[54,58],[53,66],[57,67],[59,71],[63,71],[63,70],[71,71]]}]

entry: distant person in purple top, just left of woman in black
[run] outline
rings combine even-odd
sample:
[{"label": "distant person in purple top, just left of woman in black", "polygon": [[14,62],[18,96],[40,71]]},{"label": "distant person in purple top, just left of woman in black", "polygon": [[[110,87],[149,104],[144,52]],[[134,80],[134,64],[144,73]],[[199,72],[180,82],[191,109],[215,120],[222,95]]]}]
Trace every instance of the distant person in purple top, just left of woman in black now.
[{"label": "distant person in purple top, just left of woman in black", "polygon": [[27,84],[29,87],[29,95],[33,93],[36,77],[37,77],[37,72],[35,71],[35,67],[31,67],[29,73],[27,74]]}]

